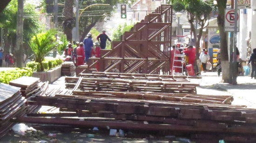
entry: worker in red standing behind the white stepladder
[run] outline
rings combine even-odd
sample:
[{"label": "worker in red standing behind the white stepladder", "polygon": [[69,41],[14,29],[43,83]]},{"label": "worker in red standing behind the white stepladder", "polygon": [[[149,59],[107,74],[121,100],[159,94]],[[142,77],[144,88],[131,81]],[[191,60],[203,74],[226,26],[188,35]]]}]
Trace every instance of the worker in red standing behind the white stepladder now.
[{"label": "worker in red standing behind the white stepladder", "polygon": [[[181,54],[180,51],[178,49],[175,50],[175,45],[172,46],[171,48],[171,74],[172,74],[172,65],[174,64],[174,66],[178,66],[178,67],[182,67],[182,62],[179,61],[175,61],[173,62],[173,58],[174,58],[174,51],[175,54]],[[181,60],[179,59],[178,56],[175,57],[175,60]],[[174,68],[175,73],[181,73],[182,72],[182,68]]]}]

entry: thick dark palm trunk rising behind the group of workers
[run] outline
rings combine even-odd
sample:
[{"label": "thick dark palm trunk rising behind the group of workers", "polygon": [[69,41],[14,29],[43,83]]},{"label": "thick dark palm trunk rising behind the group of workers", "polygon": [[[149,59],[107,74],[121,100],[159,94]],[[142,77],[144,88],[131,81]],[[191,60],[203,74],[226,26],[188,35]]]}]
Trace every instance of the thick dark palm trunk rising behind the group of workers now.
[{"label": "thick dark palm trunk rising behind the group of workers", "polygon": [[64,29],[64,33],[67,35],[67,41],[70,43],[72,43],[72,28],[74,24],[73,2],[74,0],[65,0],[63,9],[65,19],[62,23],[62,27]]}]

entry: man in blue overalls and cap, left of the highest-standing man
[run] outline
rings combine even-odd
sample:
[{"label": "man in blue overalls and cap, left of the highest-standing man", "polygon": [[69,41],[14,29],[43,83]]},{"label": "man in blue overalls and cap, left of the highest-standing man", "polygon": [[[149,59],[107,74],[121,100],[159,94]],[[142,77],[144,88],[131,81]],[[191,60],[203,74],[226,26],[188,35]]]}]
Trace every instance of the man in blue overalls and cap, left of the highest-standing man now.
[{"label": "man in blue overalls and cap, left of the highest-standing man", "polygon": [[94,46],[91,33],[87,34],[87,37],[84,39],[83,43],[84,43],[85,62],[87,63],[88,58],[91,56],[91,50]]}]

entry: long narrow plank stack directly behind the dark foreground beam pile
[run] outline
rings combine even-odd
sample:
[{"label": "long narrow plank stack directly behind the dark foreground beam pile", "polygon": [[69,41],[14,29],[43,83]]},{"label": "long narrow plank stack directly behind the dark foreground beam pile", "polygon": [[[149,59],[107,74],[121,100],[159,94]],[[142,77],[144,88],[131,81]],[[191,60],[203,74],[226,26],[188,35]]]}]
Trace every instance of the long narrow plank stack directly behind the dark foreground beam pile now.
[{"label": "long narrow plank stack directly behind the dark foreground beam pile", "polygon": [[93,97],[93,98],[113,98],[113,99],[143,99],[154,101],[173,101],[191,103],[216,103],[231,104],[231,95],[204,95],[186,93],[150,93],[150,92],[111,92],[111,91],[73,91],[74,96]]}]

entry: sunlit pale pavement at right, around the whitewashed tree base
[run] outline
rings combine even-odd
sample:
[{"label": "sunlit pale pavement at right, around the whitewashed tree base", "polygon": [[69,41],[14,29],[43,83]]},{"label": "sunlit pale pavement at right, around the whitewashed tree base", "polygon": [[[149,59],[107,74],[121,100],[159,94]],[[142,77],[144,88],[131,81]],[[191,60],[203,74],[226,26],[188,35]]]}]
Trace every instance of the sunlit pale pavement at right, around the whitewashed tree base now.
[{"label": "sunlit pale pavement at right, around the whitewashed tree base", "polygon": [[206,72],[199,75],[202,79],[191,79],[191,82],[199,83],[198,94],[233,95],[233,105],[246,105],[248,108],[256,108],[256,79],[250,76],[238,76],[237,85],[222,83],[222,75],[217,72]]}]

